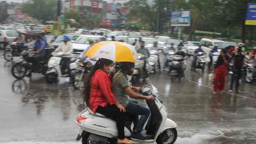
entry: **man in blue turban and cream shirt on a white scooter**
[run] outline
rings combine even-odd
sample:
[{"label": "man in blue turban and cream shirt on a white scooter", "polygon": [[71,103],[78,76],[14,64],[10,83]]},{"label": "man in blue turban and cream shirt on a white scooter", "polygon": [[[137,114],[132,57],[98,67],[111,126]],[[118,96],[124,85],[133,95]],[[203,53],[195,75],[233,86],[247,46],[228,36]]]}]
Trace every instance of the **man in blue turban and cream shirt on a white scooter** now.
[{"label": "man in blue turban and cream shirt on a white scooter", "polygon": [[62,67],[62,71],[64,72],[68,69],[68,75],[70,77],[70,60],[73,57],[73,44],[70,42],[70,38],[67,35],[64,35],[64,43],[58,46],[54,52],[63,52],[61,61],[64,63]]}]

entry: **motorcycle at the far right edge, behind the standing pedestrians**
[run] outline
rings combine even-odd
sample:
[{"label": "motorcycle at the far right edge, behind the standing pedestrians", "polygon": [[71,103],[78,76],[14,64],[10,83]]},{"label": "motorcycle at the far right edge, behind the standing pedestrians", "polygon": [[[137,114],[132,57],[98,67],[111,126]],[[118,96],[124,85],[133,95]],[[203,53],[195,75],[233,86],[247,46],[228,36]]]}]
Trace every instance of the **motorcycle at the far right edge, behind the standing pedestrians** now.
[{"label": "motorcycle at the far right edge, behind the standing pedestrians", "polygon": [[245,71],[245,81],[247,83],[252,83],[256,79],[256,63],[252,60],[250,61],[244,61],[244,64],[246,65]]}]

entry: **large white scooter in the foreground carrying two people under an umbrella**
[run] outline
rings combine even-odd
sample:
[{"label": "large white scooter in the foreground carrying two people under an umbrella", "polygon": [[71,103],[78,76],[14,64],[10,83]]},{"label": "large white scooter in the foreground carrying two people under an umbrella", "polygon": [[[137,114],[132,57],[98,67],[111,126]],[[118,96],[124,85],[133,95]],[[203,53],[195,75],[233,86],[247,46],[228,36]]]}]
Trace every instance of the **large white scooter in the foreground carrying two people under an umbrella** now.
[{"label": "large white scooter in the foreground carrying two people under an umbrella", "polygon": [[[151,111],[151,116],[145,124],[147,135],[152,135],[152,139],[145,141],[134,141],[135,144],[174,144],[177,139],[177,124],[167,118],[167,109],[163,105],[157,93],[157,88],[153,85],[141,88],[143,95],[154,95],[154,100],[147,100],[146,103]],[[116,144],[117,128],[116,121],[106,118],[99,113],[94,114],[89,108],[82,111],[76,124],[80,127],[80,133],[76,140],[82,138],[82,144]],[[131,137],[131,131],[125,127],[125,136]]]}]

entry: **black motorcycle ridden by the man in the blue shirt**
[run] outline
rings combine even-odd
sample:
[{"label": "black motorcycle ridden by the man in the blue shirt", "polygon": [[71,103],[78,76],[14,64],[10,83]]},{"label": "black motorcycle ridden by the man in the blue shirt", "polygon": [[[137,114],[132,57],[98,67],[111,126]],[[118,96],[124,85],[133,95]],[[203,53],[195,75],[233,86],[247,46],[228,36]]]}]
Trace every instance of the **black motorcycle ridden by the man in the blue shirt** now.
[{"label": "black motorcycle ridden by the man in the blue shirt", "polygon": [[12,75],[21,79],[31,72],[42,73],[43,75],[47,72],[47,59],[46,61],[41,61],[40,65],[35,63],[35,52],[34,49],[29,49],[28,51],[21,52],[20,62],[15,63],[12,66]]}]

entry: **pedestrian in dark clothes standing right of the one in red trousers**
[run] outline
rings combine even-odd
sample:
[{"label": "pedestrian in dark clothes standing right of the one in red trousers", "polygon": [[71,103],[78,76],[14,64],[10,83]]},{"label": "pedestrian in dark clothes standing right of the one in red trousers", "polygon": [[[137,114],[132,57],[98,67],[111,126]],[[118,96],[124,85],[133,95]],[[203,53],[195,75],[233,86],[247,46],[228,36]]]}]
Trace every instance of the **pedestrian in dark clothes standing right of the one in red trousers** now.
[{"label": "pedestrian in dark clothes standing right of the one in red trousers", "polygon": [[242,51],[243,43],[238,44],[237,50],[233,51],[232,55],[232,63],[233,63],[233,75],[231,76],[230,90],[229,92],[233,92],[233,83],[236,81],[236,92],[241,93],[239,90],[239,80],[242,76],[242,67],[244,64],[245,52]]}]

